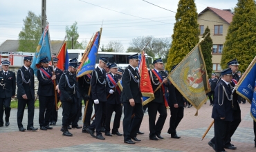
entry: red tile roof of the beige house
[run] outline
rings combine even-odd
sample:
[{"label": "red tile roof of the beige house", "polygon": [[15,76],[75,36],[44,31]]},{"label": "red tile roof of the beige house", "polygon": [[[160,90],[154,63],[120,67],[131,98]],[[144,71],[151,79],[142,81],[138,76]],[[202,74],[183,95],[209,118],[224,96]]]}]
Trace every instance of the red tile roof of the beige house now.
[{"label": "red tile roof of the beige house", "polygon": [[205,12],[206,10],[212,10],[212,12],[214,12],[216,15],[218,15],[221,19],[223,19],[224,21],[231,23],[232,21],[232,17],[234,16],[230,11],[228,10],[219,10],[217,8],[211,8],[211,7],[207,7],[205,8],[202,12],[199,13],[198,16],[202,15],[203,12]]}]

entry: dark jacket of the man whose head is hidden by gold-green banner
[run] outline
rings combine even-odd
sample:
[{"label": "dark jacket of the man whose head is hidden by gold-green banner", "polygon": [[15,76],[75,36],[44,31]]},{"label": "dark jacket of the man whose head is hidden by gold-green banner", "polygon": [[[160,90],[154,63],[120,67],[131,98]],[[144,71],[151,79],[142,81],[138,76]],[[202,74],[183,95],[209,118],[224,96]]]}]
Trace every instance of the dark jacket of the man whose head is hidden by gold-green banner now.
[{"label": "dark jacket of the man whose head is hidden by gold-green banner", "polygon": [[177,88],[173,84],[170,84],[168,87],[169,90],[169,99],[168,99],[168,104],[169,106],[174,106],[174,104],[178,104],[179,107],[184,106],[184,98],[183,95],[178,91]]}]

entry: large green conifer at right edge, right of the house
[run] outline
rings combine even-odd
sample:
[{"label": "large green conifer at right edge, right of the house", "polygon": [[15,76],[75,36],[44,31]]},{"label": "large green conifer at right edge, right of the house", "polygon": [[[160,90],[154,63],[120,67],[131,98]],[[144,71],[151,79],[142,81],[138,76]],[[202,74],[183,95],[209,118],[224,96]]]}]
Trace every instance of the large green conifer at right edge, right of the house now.
[{"label": "large green conifer at right edge, right of the house", "polygon": [[228,28],[221,57],[221,68],[237,58],[239,70],[244,72],[256,55],[256,6],[253,0],[238,0],[235,14]]}]

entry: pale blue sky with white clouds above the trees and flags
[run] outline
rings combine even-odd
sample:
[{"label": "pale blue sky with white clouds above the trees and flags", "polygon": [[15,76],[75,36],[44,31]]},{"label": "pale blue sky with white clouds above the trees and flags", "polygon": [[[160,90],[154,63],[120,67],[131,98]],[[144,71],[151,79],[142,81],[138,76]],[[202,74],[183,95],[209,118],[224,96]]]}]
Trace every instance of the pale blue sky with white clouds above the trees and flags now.
[{"label": "pale blue sky with white clouds above the trees and flags", "polygon": [[[136,37],[172,37],[178,3],[179,0],[46,0],[46,15],[51,40],[63,40],[66,26],[77,21],[78,41],[88,42],[103,22],[100,46],[120,41],[126,50]],[[199,13],[208,6],[235,8],[237,0],[195,3]],[[7,39],[18,39],[28,11],[41,15],[42,0],[0,0],[0,44]]]}]

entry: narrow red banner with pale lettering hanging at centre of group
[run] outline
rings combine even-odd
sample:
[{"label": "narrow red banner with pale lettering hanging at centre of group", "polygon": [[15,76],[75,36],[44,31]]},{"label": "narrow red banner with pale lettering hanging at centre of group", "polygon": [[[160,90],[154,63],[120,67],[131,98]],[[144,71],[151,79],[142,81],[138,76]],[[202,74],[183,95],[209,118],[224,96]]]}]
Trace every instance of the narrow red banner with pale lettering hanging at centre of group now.
[{"label": "narrow red banner with pale lettering hanging at centre of group", "polygon": [[140,64],[139,64],[139,71],[140,71],[140,91],[143,95],[143,106],[151,102],[154,97],[154,91],[152,88],[152,84],[150,82],[149,72],[147,70],[146,58],[145,53],[142,51],[139,55]]}]

